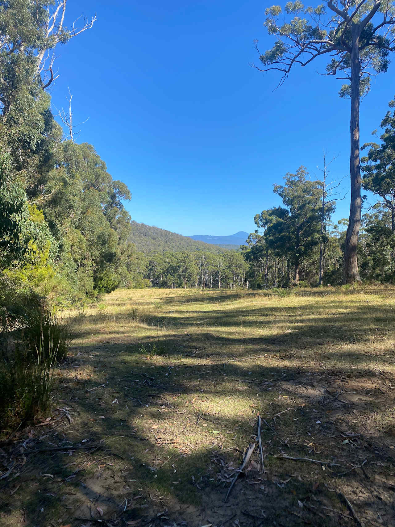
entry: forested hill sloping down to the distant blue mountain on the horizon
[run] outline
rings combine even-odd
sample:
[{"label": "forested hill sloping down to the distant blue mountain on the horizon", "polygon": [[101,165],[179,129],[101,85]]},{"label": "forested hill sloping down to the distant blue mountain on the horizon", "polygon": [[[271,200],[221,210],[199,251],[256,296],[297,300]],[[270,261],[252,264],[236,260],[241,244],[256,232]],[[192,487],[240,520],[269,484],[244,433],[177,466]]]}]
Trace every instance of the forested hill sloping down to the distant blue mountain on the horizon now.
[{"label": "forested hill sloping down to the distant blue mountain on the horizon", "polygon": [[[232,241],[231,245],[221,246],[212,245],[214,242],[204,243],[203,241],[196,241],[189,236],[182,236],[175,232],[159,229],[145,225],[145,223],[137,223],[132,221],[132,231],[128,238],[130,243],[134,243],[137,251],[141,252],[164,252],[164,251],[208,251],[221,253],[229,249],[239,249],[237,242]],[[232,238],[228,236],[225,238]]]}]

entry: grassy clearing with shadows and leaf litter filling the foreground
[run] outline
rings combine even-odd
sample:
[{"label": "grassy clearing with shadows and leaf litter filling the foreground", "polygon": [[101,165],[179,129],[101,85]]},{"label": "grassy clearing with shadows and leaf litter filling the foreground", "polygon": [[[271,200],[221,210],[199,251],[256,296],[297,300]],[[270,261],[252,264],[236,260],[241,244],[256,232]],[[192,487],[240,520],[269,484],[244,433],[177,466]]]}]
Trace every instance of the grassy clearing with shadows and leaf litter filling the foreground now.
[{"label": "grassy clearing with shadows and leaf litter filling the foreground", "polygon": [[[0,525],[395,526],[394,308],[151,289],[71,313],[51,419],[1,445]],[[224,504],[259,415],[264,467]]]}]

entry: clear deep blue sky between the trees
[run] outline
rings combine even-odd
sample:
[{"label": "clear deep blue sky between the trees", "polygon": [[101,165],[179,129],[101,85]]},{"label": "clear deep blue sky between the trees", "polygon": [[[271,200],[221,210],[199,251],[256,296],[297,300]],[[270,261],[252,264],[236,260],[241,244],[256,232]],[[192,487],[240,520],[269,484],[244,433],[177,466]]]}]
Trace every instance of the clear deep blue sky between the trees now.
[{"label": "clear deep blue sky between the trees", "polygon": [[[278,90],[253,47],[271,47],[256,0],[68,0],[69,21],[97,12],[92,30],[57,48],[53,104],[73,93],[79,142],[94,145],[129,186],[132,219],[183,235],[254,230],[254,214],[280,204],[272,192],[303,164],[315,178],[322,150],[349,172],[350,101],[341,81],[297,67]],[[394,57],[395,60],[395,57]],[[371,141],[394,94],[393,66],[361,105]],[[348,178],[343,182],[348,190]],[[348,217],[349,196],[335,219]]]}]

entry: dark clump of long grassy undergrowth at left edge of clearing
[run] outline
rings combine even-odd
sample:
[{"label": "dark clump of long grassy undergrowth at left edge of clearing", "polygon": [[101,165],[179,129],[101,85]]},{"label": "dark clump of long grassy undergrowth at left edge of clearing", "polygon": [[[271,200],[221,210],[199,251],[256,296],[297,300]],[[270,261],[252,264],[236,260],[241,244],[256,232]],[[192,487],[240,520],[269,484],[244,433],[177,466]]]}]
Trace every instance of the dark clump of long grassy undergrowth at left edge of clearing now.
[{"label": "dark clump of long grassy undergrowth at left edge of clearing", "polygon": [[52,366],[71,341],[70,327],[34,291],[0,279],[0,431],[44,413]]}]

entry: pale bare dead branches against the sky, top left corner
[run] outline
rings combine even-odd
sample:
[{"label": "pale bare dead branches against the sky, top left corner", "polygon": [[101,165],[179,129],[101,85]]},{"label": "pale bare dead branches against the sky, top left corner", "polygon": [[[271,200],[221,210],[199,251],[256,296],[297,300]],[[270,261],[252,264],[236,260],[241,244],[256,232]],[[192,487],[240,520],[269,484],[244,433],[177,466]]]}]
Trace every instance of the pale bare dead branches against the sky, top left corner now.
[{"label": "pale bare dead branches against the sky, top left corner", "polygon": [[[90,20],[81,15],[73,22],[72,27],[68,28],[64,25],[66,6],[67,0],[56,0],[54,6],[48,6],[47,8],[48,16],[44,23],[47,47],[41,49],[36,55],[37,73],[41,76],[44,90],[59,76],[57,72],[54,73],[53,71],[57,44],[65,43],[70,38],[80,35],[90,29],[97,20],[96,13]],[[78,25],[80,21],[82,23]]]}]

